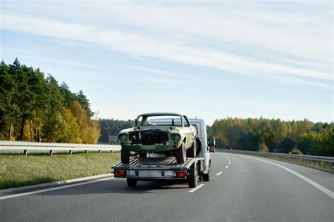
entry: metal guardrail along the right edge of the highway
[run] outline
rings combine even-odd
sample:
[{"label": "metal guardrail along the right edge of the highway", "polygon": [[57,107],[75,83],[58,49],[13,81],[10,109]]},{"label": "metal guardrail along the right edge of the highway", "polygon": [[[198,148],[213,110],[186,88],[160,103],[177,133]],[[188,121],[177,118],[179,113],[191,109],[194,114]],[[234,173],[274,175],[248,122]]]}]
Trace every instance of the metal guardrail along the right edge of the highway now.
[{"label": "metal guardrail along the right edge of the highway", "polygon": [[297,162],[301,164],[308,164],[312,166],[321,166],[326,169],[333,169],[334,157],[321,157],[310,155],[293,155],[278,152],[256,152],[246,150],[222,150],[223,152],[240,153],[246,155],[255,155],[260,157],[270,157],[273,159],[283,159],[289,162]]}]

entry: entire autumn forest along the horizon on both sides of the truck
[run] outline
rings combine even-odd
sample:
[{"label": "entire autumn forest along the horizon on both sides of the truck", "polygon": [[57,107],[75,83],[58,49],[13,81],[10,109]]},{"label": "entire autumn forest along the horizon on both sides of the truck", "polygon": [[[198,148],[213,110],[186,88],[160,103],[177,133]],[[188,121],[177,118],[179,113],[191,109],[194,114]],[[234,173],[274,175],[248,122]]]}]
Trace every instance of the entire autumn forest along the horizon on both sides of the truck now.
[{"label": "entire autumn forest along the horizon on both sides of the truck", "polygon": [[[108,143],[132,120],[92,119],[89,100],[38,68],[0,65],[0,140]],[[308,119],[216,119],[207,126],[216,148],[334,157],[334,124]]]}]

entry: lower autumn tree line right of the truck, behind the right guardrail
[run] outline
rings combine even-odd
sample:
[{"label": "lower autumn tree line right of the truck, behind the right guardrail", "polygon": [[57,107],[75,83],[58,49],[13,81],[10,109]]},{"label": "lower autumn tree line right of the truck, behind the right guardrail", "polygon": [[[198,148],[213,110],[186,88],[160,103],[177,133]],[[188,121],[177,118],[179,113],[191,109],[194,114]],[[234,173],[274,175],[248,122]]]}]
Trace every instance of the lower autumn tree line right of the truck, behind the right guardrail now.
[{"label": "lower autumn tree line right of the truck, behind the right guardrail", "polygon": [[207,129],[217,148],[334,157],[333,122],[227,118]]}]

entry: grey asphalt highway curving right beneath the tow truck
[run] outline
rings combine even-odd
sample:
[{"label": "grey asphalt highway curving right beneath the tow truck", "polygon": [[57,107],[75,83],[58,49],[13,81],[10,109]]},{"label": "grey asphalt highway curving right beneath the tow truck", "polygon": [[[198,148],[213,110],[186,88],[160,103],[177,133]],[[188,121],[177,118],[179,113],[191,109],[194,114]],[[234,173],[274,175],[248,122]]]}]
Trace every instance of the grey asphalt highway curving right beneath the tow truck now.
[{"label": "grey asphalt highway curving right beneath the tow truck", "polygon": [[333,197],[316,187],[333,195],[333,173],[244,155],[212,158],[211,181],[194,192],[186,183],[128,188],[111,178],[0,200],[0,221],[334,221]]}]

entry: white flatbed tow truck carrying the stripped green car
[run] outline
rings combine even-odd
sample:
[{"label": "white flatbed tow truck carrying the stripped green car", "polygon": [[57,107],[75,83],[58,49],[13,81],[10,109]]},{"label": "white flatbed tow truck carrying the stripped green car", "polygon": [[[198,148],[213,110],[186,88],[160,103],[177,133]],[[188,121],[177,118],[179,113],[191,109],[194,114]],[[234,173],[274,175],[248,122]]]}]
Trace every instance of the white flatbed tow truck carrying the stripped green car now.
[{"label": "white flatbed tow truck carrying the stripped green car", "polygon": [[190,188],[197,187],[198,181],[210,181],[211,157],[209,147],[214,146],[207,139],[206,125],[203,119],[190,119],[197,129],[196,157],[187,158],[185,163],[178,164],[175,157],[156,157],[149,153],[147,157],[130,157],[128,164],[118,162],[113,165],[116,178],[126,178],[130,187],[137,185],[137,181],[178,180],[188,183]]}]

